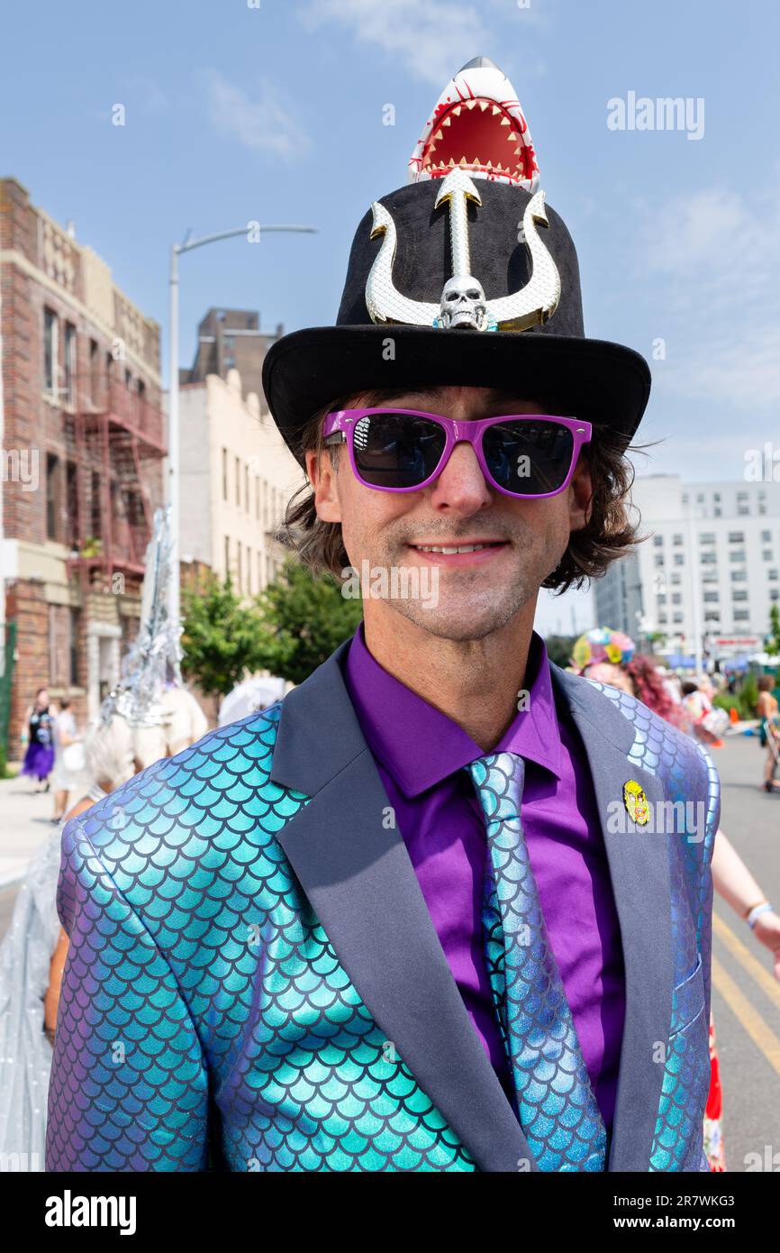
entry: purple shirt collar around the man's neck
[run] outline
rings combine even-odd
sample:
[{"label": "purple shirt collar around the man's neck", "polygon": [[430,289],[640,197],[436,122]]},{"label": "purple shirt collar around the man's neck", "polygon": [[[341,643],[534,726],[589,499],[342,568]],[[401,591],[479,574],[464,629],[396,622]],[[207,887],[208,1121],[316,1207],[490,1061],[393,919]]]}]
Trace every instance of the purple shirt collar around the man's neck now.
[{"label": "purple shirt collar around the man's neck", "polygon": [[[368,747],[404,796],[418,796],[485,756],[452,718],[379,665],[368,652],[362,623],[347,649],[344,680]],[[517,753],[561,778],[561,736],[550,662],[536,632],[528,649],[526,690],[527,697],[493,752]]]}]

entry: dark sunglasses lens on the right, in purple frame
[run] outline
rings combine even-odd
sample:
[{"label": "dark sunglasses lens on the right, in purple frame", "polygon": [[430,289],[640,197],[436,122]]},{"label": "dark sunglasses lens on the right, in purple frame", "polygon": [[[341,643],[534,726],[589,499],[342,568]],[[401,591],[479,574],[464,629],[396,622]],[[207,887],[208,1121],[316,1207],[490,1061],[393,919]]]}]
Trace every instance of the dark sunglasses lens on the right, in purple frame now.
[{"label": "dark sunglasses lens on the right, in purple frame", "polygon": [[557,422],[496,422],[482,436],[486,465],[506,491],[545,496],[566,481],[573,454],[573,436]]}]

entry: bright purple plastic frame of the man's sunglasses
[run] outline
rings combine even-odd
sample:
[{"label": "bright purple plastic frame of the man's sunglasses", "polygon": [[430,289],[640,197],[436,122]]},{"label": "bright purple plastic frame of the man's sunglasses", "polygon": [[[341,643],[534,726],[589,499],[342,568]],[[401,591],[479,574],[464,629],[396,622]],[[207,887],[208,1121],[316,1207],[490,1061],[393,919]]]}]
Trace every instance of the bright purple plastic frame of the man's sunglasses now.
[{"label": "bright purple plastic frame of the man's sunglasses", "polygon": [[[376,482],[367,482],[363,479],[361,471],[358,470],[356,457],[354,457],[354,430],[357,424],[362,417],[371,417],[374,413],[398,413],[403,417],[422,417],[426,421],[436,422],[444,431],[444,447],[439,457],[438,465],[436,466],[433,474],[428,475],[422,482],[414,484],[412,487],[382,487]],[[566,479],[560,487],[555,491],[531,491],[520,492],[510,491],[507,487],[502,487],[501,484],[496,482],[490,472],[487,462],[485,460],[485,454],[482,451],[482,436],[483,432],[491,427],[497,426],[500,422],[553,422],[556,426],[563,426],[572,435],[572,450],[571,450],[571,464],[566,474]],[[333,436],[339,435],[341,440],[334,440]],[[592,435],[592,427],[590,422],[585,422],[578,417],[558,417],[553,413],[501,413],[498,417],[480,417],[475,421],[472,420],[459,420],[453,417],[444,417],[441,413],[429,413],[426,410],[418,408],[393,408],[388,405],[377,406],[376,408],[339,408],[326,416],[323,426],[323,440],[326,444],[346,442],[349,449],[349,464],[352,465],[352,472],[362,482],[364,487],[371,487],[373,491],[392,491],[392,492],[409,492],[409,491],[422,491],[423,487],[428,487],[436,479],[441,475],[444,466],[449,461],[452,450],[456,444],[471,444],[475,450],[477,461],[480,462],[480,469],[485,476],[486,482],[500,491],[502,496],[511,496],[513,500],[547,500],[550,496],[558,496],[562,491],[568,487],[571,477],[575,472],[580,452],[585,444],[588,444]]]}]

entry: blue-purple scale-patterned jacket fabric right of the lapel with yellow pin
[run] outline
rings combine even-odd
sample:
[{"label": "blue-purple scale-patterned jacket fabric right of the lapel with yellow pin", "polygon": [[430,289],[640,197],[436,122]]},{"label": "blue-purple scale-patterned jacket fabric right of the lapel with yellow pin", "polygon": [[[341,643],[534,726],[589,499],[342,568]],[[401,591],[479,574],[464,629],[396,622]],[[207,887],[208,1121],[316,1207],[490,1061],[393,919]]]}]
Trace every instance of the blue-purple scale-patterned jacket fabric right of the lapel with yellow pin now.
[{"label": "blue-purple scale-patterned jacket fabric right of the lapel with yellow pin", "polygon": [[[710,754],[700,743],[681,737],[626,693],[598,683],[593,687],[634,723],[635,739],[629,761],[661,779],[667,801],[700,807],[690,813],[696,817],[701,812],[705,818],[697,824],[695,838],[680,834],[669,841],[676,986],[650,1170],[709,1169],[706,1157],[700,1167],[691,1162],[691,1146],[704,1135],[702,1113],[710,1088],[710,862],[720,814],[720,781]],[[700,1012],[691,1017],[696,1004],[701,1005]]]}]

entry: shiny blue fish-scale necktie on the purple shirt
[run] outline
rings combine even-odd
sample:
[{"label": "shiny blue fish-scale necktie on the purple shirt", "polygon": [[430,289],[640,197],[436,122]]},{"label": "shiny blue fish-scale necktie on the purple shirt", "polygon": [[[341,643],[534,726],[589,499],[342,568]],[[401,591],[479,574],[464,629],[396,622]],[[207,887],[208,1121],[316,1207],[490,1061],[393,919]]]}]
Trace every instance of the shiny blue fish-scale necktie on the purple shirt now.
[{"label": "shiny blue fish-scale necktie on the purple shirt", "polygon": [[490,753],[467,769],[486,822],[485,951],[521,1126],[540,1170],[603,1170],[606,1128],[547,937],[520,817],[525,761],[516,753]]}]

